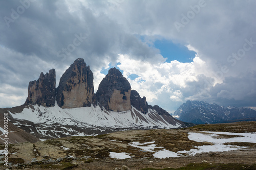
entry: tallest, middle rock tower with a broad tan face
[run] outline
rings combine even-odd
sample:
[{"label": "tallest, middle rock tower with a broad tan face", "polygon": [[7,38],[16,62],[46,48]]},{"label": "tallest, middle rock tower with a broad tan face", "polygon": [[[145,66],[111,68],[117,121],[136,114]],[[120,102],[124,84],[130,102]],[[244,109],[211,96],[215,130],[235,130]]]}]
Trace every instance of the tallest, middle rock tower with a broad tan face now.
[{"label": "tallest, middle rock tower with a broad tan face", "polygon": [[83,59],[75,60],[60,78],[56,100],[61,108],[91,106],[95,100],[93,72]]}]

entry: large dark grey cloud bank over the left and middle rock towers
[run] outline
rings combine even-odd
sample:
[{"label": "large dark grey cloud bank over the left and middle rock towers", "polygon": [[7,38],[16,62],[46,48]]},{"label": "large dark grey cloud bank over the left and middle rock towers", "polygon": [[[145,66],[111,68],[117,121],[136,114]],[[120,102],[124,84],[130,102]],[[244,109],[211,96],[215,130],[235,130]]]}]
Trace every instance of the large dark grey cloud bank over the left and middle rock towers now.
[{"label": "large dark grey cloud bank over the left and middle rock towers", "polygon": [[23,0],[1,1],[0,8],[2,86],[25,91],[29,81],[51,68],[56,69],[58,82],[78,57],[91,69],[100,70],[109,62],[114,65],[119,53],[151,59],[158,52],[126,34],[108,16],[95,15],[82,5],[70,12],[62,1]]}]

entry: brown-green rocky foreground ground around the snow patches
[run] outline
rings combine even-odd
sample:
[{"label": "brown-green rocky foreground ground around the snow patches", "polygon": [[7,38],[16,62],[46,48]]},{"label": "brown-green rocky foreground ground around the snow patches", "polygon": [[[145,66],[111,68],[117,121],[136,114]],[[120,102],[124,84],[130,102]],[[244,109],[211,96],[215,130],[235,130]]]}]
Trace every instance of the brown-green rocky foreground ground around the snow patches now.
[{"label": "brown-green rocky foreground ground around the snow patches", "polygon": [[[154,153],[163,148],[168,151],[188,151],[210,142],[188,139],[188,132],[256,132],[256,122],[198,125],[185,129],[156,129],[121,131],[93,137],[66,137],[9,145],[9,169],[256,169],[256,143],[225,143],[247,147],[228,152],[186,154],[176,158],[159,159]],[[220,135],[230,138],[229,135]],[[153,151],[137,148],[155,144]],[[144,144],[143,144],[144,143]],[[161,147],[161,148],[160,148]],[[4,146],[0,145],[0,150]],[[111,153],[126,153],[131,158],[117,159]],[[6,169],[4,163],[0,169]]]}]

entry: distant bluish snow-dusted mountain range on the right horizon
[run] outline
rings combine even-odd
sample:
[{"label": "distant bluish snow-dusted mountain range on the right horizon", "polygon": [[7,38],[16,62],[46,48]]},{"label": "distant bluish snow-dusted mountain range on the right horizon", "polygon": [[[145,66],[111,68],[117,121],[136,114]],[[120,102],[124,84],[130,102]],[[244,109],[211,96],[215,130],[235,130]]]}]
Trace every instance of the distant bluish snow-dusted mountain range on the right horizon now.
[{"label": "distant bluish snow-dusted mountain range on the right horizon", "polygon": [[244,107],[223,107],[205,101],[187,101],[173,114],[183,122],[194,124],[212,124],[256,120],[256,111]]}]

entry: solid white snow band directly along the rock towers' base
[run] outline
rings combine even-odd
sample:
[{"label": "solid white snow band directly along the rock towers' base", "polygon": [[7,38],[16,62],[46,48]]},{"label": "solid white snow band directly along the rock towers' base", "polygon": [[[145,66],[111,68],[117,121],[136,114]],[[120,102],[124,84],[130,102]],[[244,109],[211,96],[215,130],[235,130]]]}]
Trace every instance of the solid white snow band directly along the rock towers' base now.
[{"label": "solid white snow band directly along the rock towers' base", "polygon": [[[32,106],[32,105],[31,105]],[[32,108],[33,107],[33,108]],[[32,106],[25,108],[22,112],[10,114],[15,119],[26,119],[30,122],[44,125],[62,124],[78,127],[112,127],[112,128],[179,128],[181,125],[169,124],[163,116],[150,109],[147,114],[143,114],[134,107],[129,111],[114,112],[102,110],[97,107],[81,107],[72,109],[62,109],[54,107]]]}]

